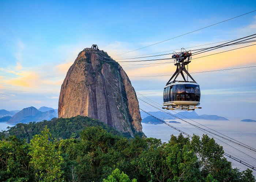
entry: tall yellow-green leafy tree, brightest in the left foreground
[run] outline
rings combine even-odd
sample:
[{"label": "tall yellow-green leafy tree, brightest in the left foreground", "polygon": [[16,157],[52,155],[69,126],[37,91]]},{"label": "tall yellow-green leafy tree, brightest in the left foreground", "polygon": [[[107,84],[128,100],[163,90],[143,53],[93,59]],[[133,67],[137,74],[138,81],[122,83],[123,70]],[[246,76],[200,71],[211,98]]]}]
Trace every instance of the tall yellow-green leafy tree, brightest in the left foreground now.
[{"label": "tall yellow-green leafy tree, brightest in the left foreground", "polygon": [[60,156],[60,151],[55,150],[54,142],[50,141],[52,138],[47,127],[41,133],[41,135],[35,135],[30,143],[30,164],[35,170],[35,179],[63,181],[63,172],[60,168],[63,158]]}]

